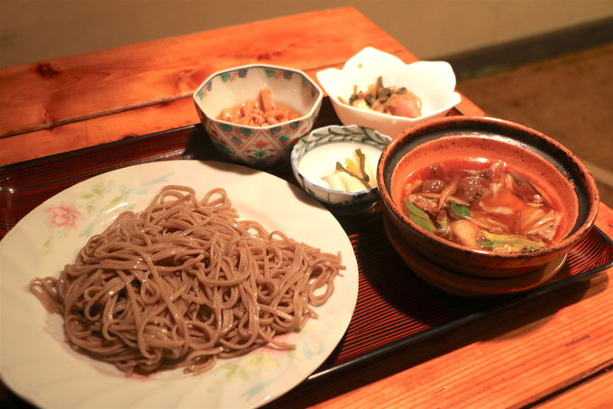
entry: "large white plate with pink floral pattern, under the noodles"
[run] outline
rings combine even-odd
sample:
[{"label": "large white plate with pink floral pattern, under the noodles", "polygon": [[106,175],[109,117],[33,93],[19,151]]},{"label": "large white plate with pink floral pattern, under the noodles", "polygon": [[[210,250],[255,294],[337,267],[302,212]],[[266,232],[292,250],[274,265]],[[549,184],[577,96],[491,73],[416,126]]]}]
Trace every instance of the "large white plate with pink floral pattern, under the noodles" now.
[{"label": "large white plate with pink floral pattern, under the noodles", "polygon": [[[240,218],[318,246],[341,251],[347,269],[334,294],[288,340],[292,351],[262,348],[221,359],[199,376],[181,369],[126,377],[63,341],[61,318],[28,291],[32,277],[58,275],[87,237],[125,209],[143,209],[167,184],[215,187],[229,194]],[[33,209],[0,241],[0,374],[7,386],[43,408],[254,407],[297,386],[324,362],[349,325],[358,293],[358,266],[338,221],[297,187],[265,172],[224,163],[145,163],[96,176]]]}]

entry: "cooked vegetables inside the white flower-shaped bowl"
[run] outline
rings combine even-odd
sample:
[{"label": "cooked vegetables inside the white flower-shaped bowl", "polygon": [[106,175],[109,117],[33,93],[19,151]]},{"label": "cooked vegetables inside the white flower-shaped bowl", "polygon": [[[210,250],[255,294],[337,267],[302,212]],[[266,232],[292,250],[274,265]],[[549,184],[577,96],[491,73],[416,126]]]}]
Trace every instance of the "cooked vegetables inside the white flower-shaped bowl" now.
[{"label": "cooked vegetables inside the white flower-shaped bowl", "polygon": [[339,97],[339,100],[351,107],[394,116],[415,118],[422,115],[420,98],[405,87],[385,87],[381,76],[366,91],[358,90],[357,85],[354,85],[349,100],[342,97]]}]

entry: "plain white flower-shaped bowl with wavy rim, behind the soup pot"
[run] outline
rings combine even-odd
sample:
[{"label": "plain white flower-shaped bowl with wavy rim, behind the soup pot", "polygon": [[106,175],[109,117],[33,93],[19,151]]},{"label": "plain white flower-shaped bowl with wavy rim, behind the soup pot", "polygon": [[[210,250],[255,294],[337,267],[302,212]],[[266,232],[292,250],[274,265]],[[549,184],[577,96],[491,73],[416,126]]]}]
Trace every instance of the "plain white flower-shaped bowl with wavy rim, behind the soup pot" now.
[{"label": "plain white flower-shaped bowl with wavy rim, behind the soup pot", "polygon": [[[462,97],[454,91],[455,73],[445,61],[416,61],[405,64],[391,54],[366,47],[347,60],[343,70],[318,71],[317,80],[330,97],[336,115],[344,125],[357,124],[395,137],[411,125],[445,116]],[[415,118],[392,116],[343,104],[353,87],[366,90],[379,76],[386,87],[406,87],[422,101],[422,115]]]}]

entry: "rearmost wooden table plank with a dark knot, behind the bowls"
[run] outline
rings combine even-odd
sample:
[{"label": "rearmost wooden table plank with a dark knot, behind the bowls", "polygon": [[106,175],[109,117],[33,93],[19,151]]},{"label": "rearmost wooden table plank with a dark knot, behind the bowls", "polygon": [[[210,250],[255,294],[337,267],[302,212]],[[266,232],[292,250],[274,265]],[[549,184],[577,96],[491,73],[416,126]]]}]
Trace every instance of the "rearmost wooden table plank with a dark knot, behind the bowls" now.
[{"label": "rearmost wooden table plank with a dark knot, behind the bowls", "polygon": [[315,70],[371,45],[416,60],[352,7],[247,23],[0,70],[0,137],[187,98],[216,70]]}]

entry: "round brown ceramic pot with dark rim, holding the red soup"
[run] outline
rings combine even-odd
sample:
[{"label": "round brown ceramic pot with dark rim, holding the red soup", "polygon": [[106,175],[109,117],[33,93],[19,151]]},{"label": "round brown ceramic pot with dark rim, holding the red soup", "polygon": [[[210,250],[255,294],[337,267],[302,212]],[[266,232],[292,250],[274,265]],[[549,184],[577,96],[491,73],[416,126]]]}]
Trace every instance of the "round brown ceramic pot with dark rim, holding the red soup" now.
[{"label": "round brown ceramic pot with dark rim, holding the red soup", "polygon": [[[560,239],[530,253],[499,254],[462,246],[418,227],[400,207],[410,172],[452,157],[501,160],[524,173],[563,210]],[[568,253],[592,227],[599,206],[596,182],[562,144],[524,125],[485,117],[448,116],[398,135],[377,171],[389,221],[421,256],[454,272],[503,278],[526,274]]]}]

